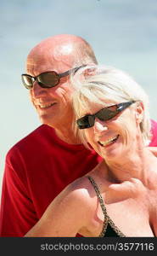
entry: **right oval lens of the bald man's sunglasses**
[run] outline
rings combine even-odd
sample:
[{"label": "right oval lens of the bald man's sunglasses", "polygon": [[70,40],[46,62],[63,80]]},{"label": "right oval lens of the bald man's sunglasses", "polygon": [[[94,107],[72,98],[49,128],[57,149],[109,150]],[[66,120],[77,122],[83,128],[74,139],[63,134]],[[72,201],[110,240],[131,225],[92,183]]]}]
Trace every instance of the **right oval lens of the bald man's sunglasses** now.
[{"label": "right oval lens of the bald man's sunglasses", "polygon": [[59,84],[59,75],[55,72],[42,73],[37,77],[37,81],[39,84],[51,88]]}]

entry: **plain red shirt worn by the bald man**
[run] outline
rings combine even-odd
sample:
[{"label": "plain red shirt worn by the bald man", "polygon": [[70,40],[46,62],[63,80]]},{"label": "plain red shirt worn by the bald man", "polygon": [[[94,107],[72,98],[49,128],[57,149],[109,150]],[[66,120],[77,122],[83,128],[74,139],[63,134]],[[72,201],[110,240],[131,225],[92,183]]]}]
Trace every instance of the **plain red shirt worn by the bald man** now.
[{"label": "plain red shirt worn by the bald man", "polygon": [[[157,146],[157,123],[152,121]],[[101,157],[64,143],[41,125],[8,151],[3,176],[0,236],[24,236],[64,187],[91,171]]]}]

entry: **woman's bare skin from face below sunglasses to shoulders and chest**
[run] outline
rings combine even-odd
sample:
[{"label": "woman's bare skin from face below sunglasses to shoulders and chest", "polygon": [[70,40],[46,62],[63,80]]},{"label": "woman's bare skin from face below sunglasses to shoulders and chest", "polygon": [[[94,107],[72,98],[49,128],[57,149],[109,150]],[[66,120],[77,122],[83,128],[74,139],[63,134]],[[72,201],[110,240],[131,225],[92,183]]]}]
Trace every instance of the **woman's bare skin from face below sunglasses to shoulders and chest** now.
[{"label": "woman's bare skin from face below sunglasses to shoulders and chest", "polygon": [[[95,125],[86,130],[88,142],[94,148],[97,145],[107,165],[102,161],[65,188],[25,236],[99,236],[104,214],[87,176],[97,183],[109,218],[124,236],[157,236],[157,159],[143,147],[139,124],[133,116],[127,109],[119,119],[107,125],[96,119]],[[126,124],[129,121],[131,127],[121,120]],[[98,137],[105,140],[115,131],[121,131],[117,143],[98,144]],[[130,135],[137,137],[134,143],[132,137],[128,139]]]}]

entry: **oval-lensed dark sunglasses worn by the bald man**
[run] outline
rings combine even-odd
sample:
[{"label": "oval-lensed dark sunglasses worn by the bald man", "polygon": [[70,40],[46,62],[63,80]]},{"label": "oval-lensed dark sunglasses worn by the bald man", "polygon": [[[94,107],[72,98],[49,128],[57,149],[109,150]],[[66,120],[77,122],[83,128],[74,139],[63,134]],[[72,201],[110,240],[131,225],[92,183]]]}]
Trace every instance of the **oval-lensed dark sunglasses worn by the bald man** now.
[{"label": "oval-lensed dark sunglasses worn by the bald man", "polygon": [[33,84],[36,81],[42,88],[51,88],[59,84],[61,78],[68,76],[70,73],[76,73],[76,71],[85,67],[86,65],[82,65],[80,67],[72,68],[64,73],[56,73],[55,71],[48,71],[45,73],[40,73],[36,77],[32,77],[29,74],[23,73],[21,75],[22,82],[25,85],[25,88],[30,90],[33,88]]}]

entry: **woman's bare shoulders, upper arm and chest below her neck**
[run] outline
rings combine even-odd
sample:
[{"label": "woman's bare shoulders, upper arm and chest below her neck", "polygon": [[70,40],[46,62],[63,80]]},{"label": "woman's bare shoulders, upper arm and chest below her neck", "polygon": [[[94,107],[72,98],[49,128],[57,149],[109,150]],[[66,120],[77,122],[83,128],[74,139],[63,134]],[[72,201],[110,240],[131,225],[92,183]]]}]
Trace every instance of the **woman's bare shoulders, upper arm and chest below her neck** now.
[{"label": "woman's bare shoulders, upper arm and chest below her neck", "polygon": [[[104,177],[105,171],[103,162],[88,175],[98,184],[115,225],[125,236],[157,236],[157,183],[151,188],[138,178],[114,183]],[[152,178],[157,180],[156,173]],[[95,190],[87,177],[81,177],[61,192],[25,236],[99,236],[103,224]]]}]

